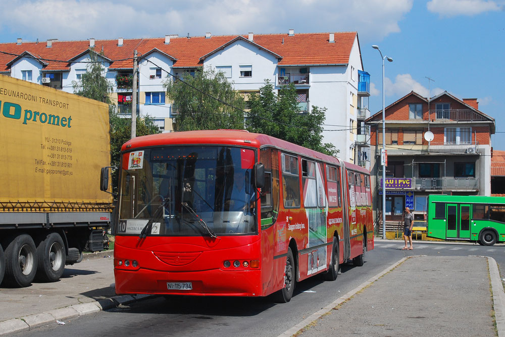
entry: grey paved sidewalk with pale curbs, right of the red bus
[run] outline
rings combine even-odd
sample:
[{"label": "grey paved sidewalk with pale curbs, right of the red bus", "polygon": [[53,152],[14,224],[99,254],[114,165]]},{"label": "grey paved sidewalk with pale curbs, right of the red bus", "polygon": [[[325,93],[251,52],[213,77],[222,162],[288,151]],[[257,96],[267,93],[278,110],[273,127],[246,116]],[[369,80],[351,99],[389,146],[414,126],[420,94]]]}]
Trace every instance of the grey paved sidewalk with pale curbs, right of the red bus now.
[{"label": "grey paved sidewalk with pale curbs, right of the red bus", "polygon": [[280,336],[505,336],[504,298],[492,258],[414,256]]}]

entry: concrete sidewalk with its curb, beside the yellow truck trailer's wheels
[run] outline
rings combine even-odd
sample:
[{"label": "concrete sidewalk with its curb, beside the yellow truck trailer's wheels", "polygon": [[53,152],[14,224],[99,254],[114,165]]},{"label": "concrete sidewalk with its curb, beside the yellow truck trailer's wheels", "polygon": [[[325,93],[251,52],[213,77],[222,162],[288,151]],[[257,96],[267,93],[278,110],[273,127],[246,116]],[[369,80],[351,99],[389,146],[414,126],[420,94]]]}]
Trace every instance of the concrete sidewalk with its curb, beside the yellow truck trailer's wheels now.
[{"label": "concrete sidewalk with its curb, beside the yellow truck trailer's wheels", "polygon": [[114,251],[84,254],[60,281],[25,288],[0,287],[0,335],[113,308],[149,295],[116,296]]}]

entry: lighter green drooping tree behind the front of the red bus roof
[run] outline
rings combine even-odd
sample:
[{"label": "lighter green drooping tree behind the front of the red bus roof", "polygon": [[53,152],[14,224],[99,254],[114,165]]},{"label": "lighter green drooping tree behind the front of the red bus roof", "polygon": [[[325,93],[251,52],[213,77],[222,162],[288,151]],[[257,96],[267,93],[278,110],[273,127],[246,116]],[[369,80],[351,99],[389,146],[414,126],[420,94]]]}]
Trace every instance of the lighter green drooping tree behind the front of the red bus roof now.
[{"label": "lighter green drooping tree behind the front of the red bus roof", "polygon": [[164,86],[178,112],[175,131],[244,128],[243,96],[222,72],[198,70],[194,77],[169,78]]}]

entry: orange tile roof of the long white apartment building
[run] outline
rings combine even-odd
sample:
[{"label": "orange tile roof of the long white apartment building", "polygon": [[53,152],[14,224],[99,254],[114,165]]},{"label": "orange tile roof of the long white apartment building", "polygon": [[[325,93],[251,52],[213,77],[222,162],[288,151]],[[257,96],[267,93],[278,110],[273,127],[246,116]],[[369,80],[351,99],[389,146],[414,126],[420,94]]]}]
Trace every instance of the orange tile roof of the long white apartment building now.
[{"label": "orange tile roof of the long white apartment building", "polygon": [[[237,36],[239,35],[172,37],[170,44],[165,44],[164,37],[123,39],[122,46],[118,46],[117,39],[95,40],[94,48],[98,53],[103,50],[107,58],[114,60],[111,69],[132,69],[134,50],[141,56],[154,48],[177,59],[174,67],[189,68],[202,66],[202,56],[219,49]],[[247,38],[246,35],[242,36]],[[340,32],[334,36],[335,43],[329,43],[329,33],[302,33],[293,36],[255,34],[254,42],[280,55],[280,66],[347,64],[357,32]],[[44,62],[48,65],[43,68],[44,71],[68,71],[68,61],[85,52],[89,48],[89,41],[53,41],[51,48],[46,45],[46,41],[0,43],[0,52],[4,52],[0,53],[0,72],[9,72],[7,64],[23,52],[45,59]]]}]

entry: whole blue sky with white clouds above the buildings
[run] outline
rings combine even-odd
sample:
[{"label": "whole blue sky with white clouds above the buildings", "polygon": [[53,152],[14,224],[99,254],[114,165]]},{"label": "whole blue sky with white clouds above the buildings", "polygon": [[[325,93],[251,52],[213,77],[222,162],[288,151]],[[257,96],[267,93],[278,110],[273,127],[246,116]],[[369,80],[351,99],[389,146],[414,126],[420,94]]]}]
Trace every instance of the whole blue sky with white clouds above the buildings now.
[{"label": "whole blue sky with white clouds above the buildings", "polygon": [[[411,90],[477,98],[495,118],[492,146],[505,150],[505,0],[12,0],[0,13],[0,42],[358,31],[371,75],[370,110]],[[503,133],[500,133],[503,132]]]}]

